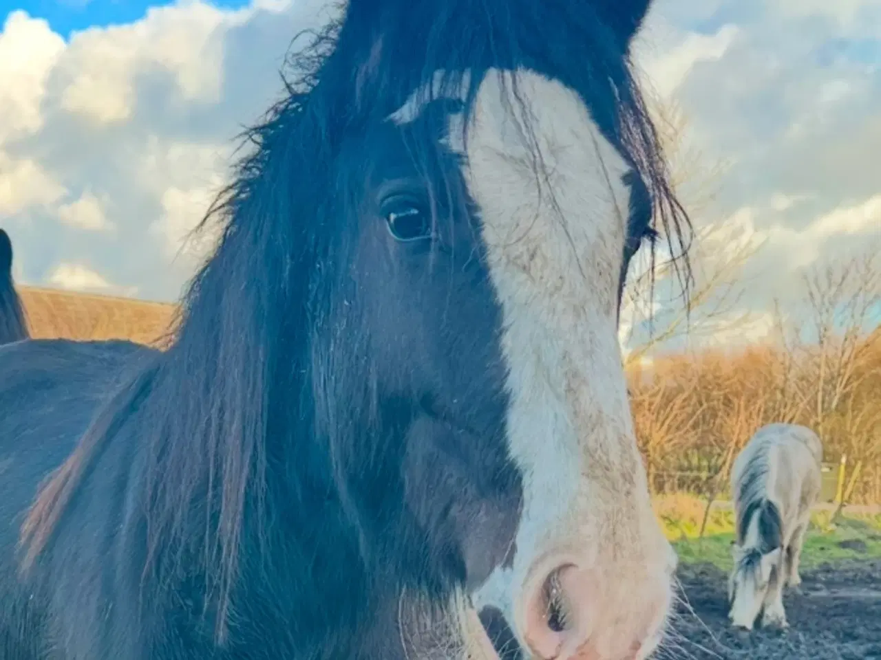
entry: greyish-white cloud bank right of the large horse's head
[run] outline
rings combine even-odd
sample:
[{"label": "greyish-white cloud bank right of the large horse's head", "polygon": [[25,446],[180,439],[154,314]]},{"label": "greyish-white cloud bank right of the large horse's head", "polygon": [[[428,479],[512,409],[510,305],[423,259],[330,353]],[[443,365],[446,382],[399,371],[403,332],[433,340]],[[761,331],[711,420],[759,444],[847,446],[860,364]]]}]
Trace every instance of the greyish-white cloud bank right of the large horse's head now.
[{"label": "greyish-white cloud bank right of the large horse's head", "polygon": [[[692,221],[699,231],[737,227],[762,245],[744,265],[743,295],[731,312],[762,315],[776,299],[784,312],[797,313],[801,268],[859,253],[881,238],[881,3],[654,6],[638,62],[669,94],[663,102],[687,119],[695,145],[687,155],[700,157],[693,169],[729,165],[714,180],[712,203]],[[730,339],[721,330],[720,337]]]}]

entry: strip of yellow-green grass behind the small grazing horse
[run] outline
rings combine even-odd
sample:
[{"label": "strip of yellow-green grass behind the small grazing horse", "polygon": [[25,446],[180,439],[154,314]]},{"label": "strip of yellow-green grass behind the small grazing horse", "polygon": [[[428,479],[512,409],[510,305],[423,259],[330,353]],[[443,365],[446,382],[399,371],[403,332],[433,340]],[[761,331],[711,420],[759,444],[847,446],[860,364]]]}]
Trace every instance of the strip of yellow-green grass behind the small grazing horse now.
[{"label": "strip of yellow-green grass behind the small grazing horse", "polygon": [[[680,562],[707,561],[724,571],[731,568],[731,541],[734,540],[732,510],[712,510],[702,539],[698,538],[698,533],[704,502],[697,497],[660,497],[655,501],[655,512],[667,538],[676,548]],[[881,514],[854,515],[846,512],[838,524],[833,524],[831,517],[828,511],[815,511],[811,515],[811,529],[802,551],[802,565],[805,568],[825,561],[881,558]],[[859,543],[853,543],[855,541]]]}]

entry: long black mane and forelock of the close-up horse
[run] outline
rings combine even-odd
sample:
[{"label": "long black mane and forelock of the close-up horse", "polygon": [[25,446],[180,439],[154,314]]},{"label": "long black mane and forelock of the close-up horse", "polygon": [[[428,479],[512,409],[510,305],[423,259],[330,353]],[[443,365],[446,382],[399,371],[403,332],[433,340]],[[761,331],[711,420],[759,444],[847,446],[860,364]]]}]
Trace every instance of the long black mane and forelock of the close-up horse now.
[{"label": "long black mane and forelock of the close-up horse", "polygon": [[[302,604],[292,605],[307,637],[309,626],[322,629],[316,602],[351,597],[354,616],[375,584],[338,583],[333,567],[359,561],[381,567],[388,555],[365,542],[366,534],[381,539],[384,521],[366,520],[349,488],[362,471],[361,486],[376,486],[395,466],[352,465],[352,447],[344,443],[363,441],[363,434],[330,430],[352,423],[337,419],[338,404],[326,400],[335,383],[321,369],[328,347],[316,341],[329,322],[329,291],[344,276],[336,268],[338,240],[352,231],[345,225],[353,214],[338,163],[341,143],[403,104],[434,70],[451,78],[470,70],[473,100],[486,69],[529,67],[581,93],[643,180],[655,224],[678,245],[671,251],[682,253],[687,218],[629,55],[621,55],[625,28],[618,17],[626,12],[616,6],[613,0],[601,9],[590,0],[351,0],[344,20],[313,34],[292,57],[285,99],[248,131],[248,155],[200,225],[219,224],[221,238],[183,298],[176,341],[107,401],[42,492],[23,528],[28,561],[53,542],[65,508],[110,440],[137,432],[149,548],[144,583],[189,566],[188,573],[204,580],[208,597],[200,606],[215,616],[221,639],[233,625],[243,573],[296,583],[301,572],[304,589],[322,589],[321,598],[299,595]],[[567,40],[572,34],[578,39]],[[421,67],[412,66],[413,53]],[[358,393],[370,409],[371,374],[359,369],[352,364],[347,377],[363,383]],[[380,461],[385,454],[377,449],[373,455]],[[297,473],[269,478],[294,464]],[[374,495],[396,499],[396,493]],[[318,556],[318,548],[273,532],[278,524],[340,542]],[[265,563],[278,553],[246,552],[281,544],[285,565]],[[422,568],[440,563],[396,561]],[[403,566],[390,567],[398,582],[393,569],[406,576]],[[434,568],[426,570],[432,575]]]}]

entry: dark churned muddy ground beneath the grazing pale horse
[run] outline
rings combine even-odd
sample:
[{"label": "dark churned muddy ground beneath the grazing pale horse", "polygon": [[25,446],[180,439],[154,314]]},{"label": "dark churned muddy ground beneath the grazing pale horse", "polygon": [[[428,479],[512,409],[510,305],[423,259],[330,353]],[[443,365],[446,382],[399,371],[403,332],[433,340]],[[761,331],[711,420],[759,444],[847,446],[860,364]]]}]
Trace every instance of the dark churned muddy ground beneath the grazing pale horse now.
[{"label": "dark churned muddy ground beneath the grazing pale horse", "polygon": [[682,566],[679,579],[700,620],[680,605],[668,660],[881,660],[881,561],[824,564],[802,571],[783,597],[789,629],[741,633],[728,626],[727,577],[710,564]]}]

